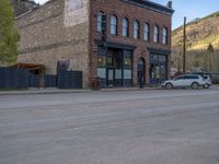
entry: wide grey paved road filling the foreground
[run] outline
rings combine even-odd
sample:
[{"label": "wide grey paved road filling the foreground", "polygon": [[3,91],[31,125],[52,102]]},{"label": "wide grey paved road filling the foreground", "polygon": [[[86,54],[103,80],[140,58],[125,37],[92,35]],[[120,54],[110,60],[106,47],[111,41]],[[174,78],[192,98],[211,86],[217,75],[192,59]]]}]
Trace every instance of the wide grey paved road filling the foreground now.
[{"label": "wide grey paved road filling the foreground", "polygon": [[219,87],[0,96],[0,164],[219,164]]}]

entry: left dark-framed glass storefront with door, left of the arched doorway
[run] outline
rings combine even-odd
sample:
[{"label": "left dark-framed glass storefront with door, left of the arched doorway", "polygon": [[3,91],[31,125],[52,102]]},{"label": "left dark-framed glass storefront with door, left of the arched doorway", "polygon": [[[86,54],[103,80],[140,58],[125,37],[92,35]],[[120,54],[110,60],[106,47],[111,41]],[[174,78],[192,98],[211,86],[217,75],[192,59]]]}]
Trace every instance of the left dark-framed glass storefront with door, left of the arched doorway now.
[{"label": "left dark-framed glass storefront with door, left of the arched doorway", "polygon": [[96,75],[101,78],[101,86],[131,86],[131,50],[97,47]]}]

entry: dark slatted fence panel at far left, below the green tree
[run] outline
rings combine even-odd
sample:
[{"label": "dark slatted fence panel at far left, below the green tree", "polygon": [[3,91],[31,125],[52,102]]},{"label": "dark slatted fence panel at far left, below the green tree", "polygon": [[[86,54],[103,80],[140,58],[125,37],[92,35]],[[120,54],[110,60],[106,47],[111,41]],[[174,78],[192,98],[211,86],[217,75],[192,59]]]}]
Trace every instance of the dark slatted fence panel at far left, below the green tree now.
[{"label": "dark slatted fence panel at far left, below the green tree", "polygon": [[0,68],[0,87],[28,87],[28,70]]}]

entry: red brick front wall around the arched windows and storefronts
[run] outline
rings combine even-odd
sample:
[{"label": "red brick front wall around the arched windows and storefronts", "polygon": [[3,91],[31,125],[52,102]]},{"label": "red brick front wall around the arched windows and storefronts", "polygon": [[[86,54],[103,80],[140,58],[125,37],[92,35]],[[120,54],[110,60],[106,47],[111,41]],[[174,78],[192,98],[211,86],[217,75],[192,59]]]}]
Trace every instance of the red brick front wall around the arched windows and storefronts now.
[{"label": "red brick front wall around the arched windows and storefronts", "polygon": [[[119,0],[92,0],[90,10],[90,75],[96,77],[96,62],[97,62],[97,46],[94,39],[100,38],[96,33],[96,13],[103,11],[107,15],[107,42],[122,43],[137,46],[134,51],[132,58],[132,84],[137,85],[137,61],[142,57],[146,61],[146,84],[149,83],[149,52],[147,47],[168,49],[171,50],[171,15],[159,13],[155,11],[147,10],[134,4],[124,3]],[[117,35],[110,34],[111,15],[117,16]],[[129,37],[123,36],[123,17],[127,17],[129,21]],[[134,20],[138,20],[140,23],[140,39],[134,38]],[[143,40],[143,23],[150,25],[150,39]],[[159,43],[153,43],[153,26],[159,26]],[[162,28],[166,27],[169,31],[168,45],[162,44]],[[169,78],[170,78],[170,55],[169,55]]]}]

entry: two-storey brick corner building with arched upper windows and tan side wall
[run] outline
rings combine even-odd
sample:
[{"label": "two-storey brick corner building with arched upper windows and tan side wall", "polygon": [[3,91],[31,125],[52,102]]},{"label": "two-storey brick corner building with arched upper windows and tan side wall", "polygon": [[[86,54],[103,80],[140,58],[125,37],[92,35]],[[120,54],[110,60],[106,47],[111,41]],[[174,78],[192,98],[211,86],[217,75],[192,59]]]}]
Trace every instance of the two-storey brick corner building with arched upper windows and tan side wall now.
[{"label": "two-storey brick corner building with arched upper windows and tan side wall", "polygon": [[157,84],[170,78],[172,3],[53,0],[18,17],[19,62],[83,72],[83,86]]}]

